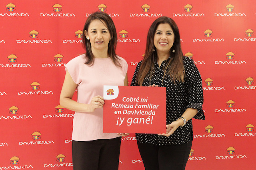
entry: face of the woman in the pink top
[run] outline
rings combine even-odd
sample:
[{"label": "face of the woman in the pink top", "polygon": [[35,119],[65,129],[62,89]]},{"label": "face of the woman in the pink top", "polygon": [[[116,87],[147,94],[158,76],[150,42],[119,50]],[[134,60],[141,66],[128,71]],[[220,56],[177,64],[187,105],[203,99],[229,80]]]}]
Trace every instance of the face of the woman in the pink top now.
[{"label": "face of the woman in the pink top", "polygon": [[89,37],[92,51],[108,50],[110,32],[104,21],[93,20],[88,27],[88,31],[85,30],[85,35],[86,38]]}]

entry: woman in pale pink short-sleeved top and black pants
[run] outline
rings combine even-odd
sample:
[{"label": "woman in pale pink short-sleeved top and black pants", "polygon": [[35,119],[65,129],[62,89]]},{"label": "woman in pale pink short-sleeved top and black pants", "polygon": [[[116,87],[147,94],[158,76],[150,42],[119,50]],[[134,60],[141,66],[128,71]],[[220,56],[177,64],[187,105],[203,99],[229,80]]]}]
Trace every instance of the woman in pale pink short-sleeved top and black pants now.
[{"label": "woman in pale pink short-sleeved top and black pants", "polygon": [[[118,170],[121,135],[103,133],[103,85],[127,86],[128,64],[116,55],[115,25],[103,12],[91,14],[84,25],[86,53],[66,64],[60,105],[75,111],[72,133],[74,170]],[[78,91],[77,102],[72,100]]]}]

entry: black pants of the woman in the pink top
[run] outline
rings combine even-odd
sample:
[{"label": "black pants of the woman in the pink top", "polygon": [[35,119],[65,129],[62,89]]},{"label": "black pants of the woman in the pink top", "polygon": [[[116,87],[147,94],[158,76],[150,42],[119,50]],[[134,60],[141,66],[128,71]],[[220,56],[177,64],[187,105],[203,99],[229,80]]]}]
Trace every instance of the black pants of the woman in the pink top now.
[{"label": "black pants of the woman in the pink top", "polygon": [[74,170],[118,170],[121,137],[72,141]]}]

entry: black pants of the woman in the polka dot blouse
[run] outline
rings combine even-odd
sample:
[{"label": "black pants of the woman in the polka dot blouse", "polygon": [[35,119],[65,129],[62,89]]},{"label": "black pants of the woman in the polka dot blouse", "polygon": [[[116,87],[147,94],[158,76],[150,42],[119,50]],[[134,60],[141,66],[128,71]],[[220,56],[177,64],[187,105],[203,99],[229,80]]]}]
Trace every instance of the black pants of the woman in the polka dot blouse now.
[{"label": "black pants of the woman in the polka dot blouse", "polygon": [[145,170],[184,170],[192,141],[183,145],[153,145],[137,141]]}]

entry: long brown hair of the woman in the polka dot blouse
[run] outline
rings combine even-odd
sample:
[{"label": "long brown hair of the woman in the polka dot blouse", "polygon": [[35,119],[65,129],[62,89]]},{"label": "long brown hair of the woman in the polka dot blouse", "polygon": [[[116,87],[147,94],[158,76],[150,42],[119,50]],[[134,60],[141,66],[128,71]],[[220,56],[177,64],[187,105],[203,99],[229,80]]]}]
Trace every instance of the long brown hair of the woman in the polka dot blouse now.
[{"label": "long brown hair of the woman in the polka dot blouse", "polygon": [[[174,45],[172,46],[169,52],[171,58],[168,61],[168,63],[166,63],[166,69],[164,70],[164,75],[169,74],[171,80],[174,83],[175,81],[184,82],[184,77],[185,77],[185,70],[183,65],[184,56],[181,50],[180,33],[179,33],[178,26],[176,25],[174,20],[172,20],[171,18],[162,16],[156,19],[148,30],[145,55],[140,66],[140,70],[138,71],[138,74],[136,77],[136,84],[138,84],[139,86],[142,86],[142,82],[148,74],[149,74],[149,78],[151,79],[151,76],[154,72],[154,61],[157,60],[156,47],[154,46],[154,35],[156,33],[156,29],[158,25],[161,23],[168,23],[171,26],[174,33]],[[175,50],[175,53],[172,53],[173,50]],[[166,74],[166,71],[167,71],[167,74]]]}]

